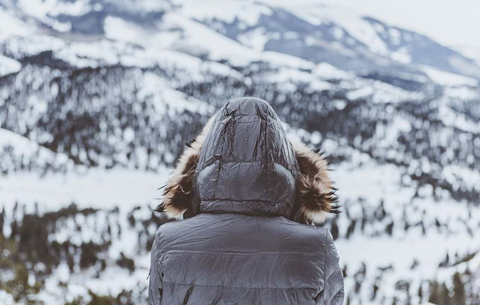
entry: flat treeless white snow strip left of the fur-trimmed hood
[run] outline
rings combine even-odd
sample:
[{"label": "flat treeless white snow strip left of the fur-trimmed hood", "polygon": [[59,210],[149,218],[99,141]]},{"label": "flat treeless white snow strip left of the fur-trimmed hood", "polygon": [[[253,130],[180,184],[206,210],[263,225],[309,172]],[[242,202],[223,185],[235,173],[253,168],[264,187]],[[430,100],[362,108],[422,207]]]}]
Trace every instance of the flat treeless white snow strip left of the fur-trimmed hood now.
[{"label": "flat treeless white snow strip left of the fur-trimmed hood", "polygon": [[158,172],[130,169],[88,169],[66,174],[16,172],[0,176],[0,204],[11,210],[16,201],[29,208],[39,204],[41,211],[51,211],[75,202],[79,207],[110,209],[132,208],[145,203],[155,206],[159,187],[165,184],[171,169]]}]

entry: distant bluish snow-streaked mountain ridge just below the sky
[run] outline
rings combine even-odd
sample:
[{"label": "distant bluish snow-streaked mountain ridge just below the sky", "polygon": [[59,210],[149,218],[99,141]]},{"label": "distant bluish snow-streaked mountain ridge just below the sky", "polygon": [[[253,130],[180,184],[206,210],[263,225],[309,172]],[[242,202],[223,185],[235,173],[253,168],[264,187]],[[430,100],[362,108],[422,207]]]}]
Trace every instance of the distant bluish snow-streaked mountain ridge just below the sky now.
[{"label": "distant bluish snow-streaked mountain ridge just below the sky", "polygon": [[[106,20],[110,17],[123,20],[127,26],[136,24],[144,29],[149,28],[152,33],[157,32],[159,39],[165,42],[163,48],[168,49],[174,47],[172,42],[181,41],[185,45],[192,39],[197,31],[192,27],[196,22],[197,28],[198,23],[203,24],[209,31],[248,48],[252,47],[249,45],[252,39],[246,38],[246,35],[255,38],[257,42],[253,49],[257,51],[278,51],[314,63],[327,62],[356,72],[365,69],[383,73],[403,70],[425,75],[419,66],[428,65],[441,71],[480,78],[480,67],[472,59],[424,35],[389,26],[372,17],[354,12],[346,13],[324,5],[309,7],[308,10],[298,8],[289,12],[281,5],[261,2],[227,1],[219,5],[217,2],[207,1],[197,6],[195,2],[184,0],[174,4],[164,2],[163,5],[155,6],[152,11],[148,9],[148,1],[141,1],[139,4],[143,6],[139,5],[128,11],[132,7],[127,1],[85,1],[80,6],[76,5],[78,2],[71,4],[68,1],[51,0],[49,6],[44,5],[46,8],[40,9],[38,13],[34,9],[27,9],[28,6],[23,2],[13,4],[4,0],[2,3],[4,9],[12,15],[19,15],[20,19],[23,17],[35,20],[38,27],[45,28],[44,31],[50,28],[48,31],[54,31],[55,35],[63,37],[69,33],[70,36],[77,35],[83,39],[107,38]],[[32,2],[35,3],[42,8],[37,1]],[[53,3],[57,5],[54,6]],[[232,9],[226,10],[228,6]],[[222,13],[226,11],[235,13]],[[187,25],[185,22],[194,23]],[[176,29],[170,31],[171,26],[176,26]],[[175,38],[176,31],[180,31],[183,36]],[[205,31],[202,33],[205,34]],[[154,34],[153,37],[155,36]],[[170,42],[164,38],[170,39]],[[216,47],[225,47],[225,51],[215,50],[196,40],[193,40],[191,45],[204,48],[214,60],[231,60],[227,54],[232,48],[235,49],[230,44]],[[140,46],[148,47],[145,41],[140,43]],[[246,50],[244,52],[248,53]],[[250,56],[258,56],[254,53]]]}]

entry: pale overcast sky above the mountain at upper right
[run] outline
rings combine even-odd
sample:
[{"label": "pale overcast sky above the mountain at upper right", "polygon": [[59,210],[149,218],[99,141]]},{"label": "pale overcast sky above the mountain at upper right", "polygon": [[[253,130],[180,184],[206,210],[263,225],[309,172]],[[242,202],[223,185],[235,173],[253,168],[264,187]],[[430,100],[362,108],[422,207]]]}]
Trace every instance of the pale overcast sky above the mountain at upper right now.
[{"label": "pale overcast sky above the mountain at upper right", "polygon": [[284,5],[325,3],[413,29],[448,46],[480,47],[480,0],[275,0]]}]

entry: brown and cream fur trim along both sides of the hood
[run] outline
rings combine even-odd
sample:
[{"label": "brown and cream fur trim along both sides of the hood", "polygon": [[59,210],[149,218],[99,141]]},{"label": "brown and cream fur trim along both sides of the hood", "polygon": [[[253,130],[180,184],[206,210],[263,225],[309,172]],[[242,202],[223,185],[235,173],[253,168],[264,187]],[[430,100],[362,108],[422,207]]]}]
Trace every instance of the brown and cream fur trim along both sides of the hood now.
[{"label": "brown and cream fur trim along both sides of the hood", "polygon": [[[192,208],[195,169],[200,157],[203,140],[212,126],[213,115],[193,142],[179,158],[175,170],[163,191],[163,202],[157,211],[166,212],[169,218],[181,219]],[[328,175],[328,158],[305,144],[290,139],[299,166],[297,193],[294,206],[300,212],[301,223],[321,224],[339,214],[336,188]]]}]

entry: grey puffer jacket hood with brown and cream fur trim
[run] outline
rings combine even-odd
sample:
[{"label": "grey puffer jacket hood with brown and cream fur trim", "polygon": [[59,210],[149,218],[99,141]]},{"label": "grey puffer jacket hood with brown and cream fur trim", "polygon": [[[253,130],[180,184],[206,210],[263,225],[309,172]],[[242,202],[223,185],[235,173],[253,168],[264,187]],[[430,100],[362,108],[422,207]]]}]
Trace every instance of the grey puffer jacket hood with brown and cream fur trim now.
[{"label": "grey puffer jacket hood with brown and cream fur trim", "polygon": [[327,167],[316,151],[288,139],[268,103],[235,99],[188,144],[157,210],[171,218],[241,212],[320,224],[339,213]]}]

